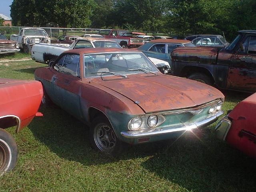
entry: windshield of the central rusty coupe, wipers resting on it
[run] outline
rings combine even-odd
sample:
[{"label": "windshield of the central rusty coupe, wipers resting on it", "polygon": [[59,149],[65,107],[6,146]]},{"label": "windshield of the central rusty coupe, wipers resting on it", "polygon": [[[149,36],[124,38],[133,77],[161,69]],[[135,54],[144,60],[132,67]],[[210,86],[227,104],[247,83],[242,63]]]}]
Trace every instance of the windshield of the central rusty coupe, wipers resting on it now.
[{"label": "windshield of the central rusty coupe, wipers resting on it", "polygon": [[[102,73],[104,72],[104,73]],[[84,55],[84,76],[98,77],[136,73],[156,73],[157,68],[139,52],[115,52]]]}]

